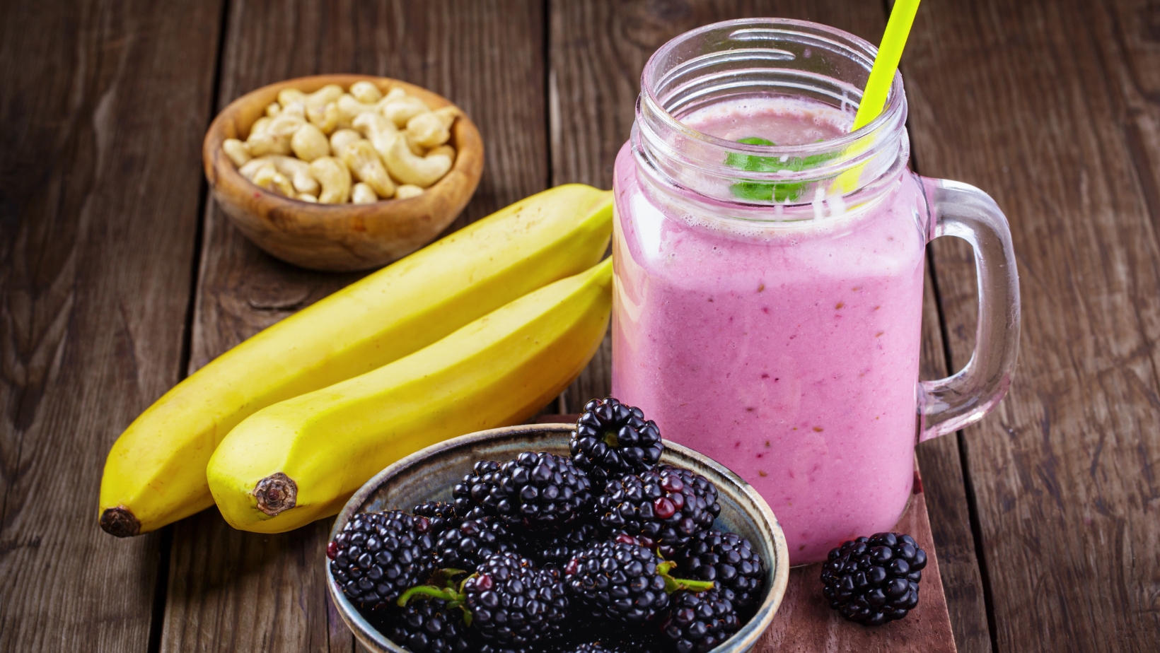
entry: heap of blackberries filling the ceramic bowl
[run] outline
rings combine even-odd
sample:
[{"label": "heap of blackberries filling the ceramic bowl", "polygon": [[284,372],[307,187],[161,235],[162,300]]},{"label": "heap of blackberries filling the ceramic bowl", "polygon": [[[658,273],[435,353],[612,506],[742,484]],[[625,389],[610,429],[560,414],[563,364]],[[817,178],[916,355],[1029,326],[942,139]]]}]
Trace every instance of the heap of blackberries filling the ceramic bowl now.
[{"label": "heap of blackberries filling the ceramic bowl", "polygon": [[413,653],[705,652],[737,632],[764,567],[712,530],[713,484],[661,465],[660,429],[614,398],[568,445],[478,460],[449,502],[355,515],[332,575]]}]

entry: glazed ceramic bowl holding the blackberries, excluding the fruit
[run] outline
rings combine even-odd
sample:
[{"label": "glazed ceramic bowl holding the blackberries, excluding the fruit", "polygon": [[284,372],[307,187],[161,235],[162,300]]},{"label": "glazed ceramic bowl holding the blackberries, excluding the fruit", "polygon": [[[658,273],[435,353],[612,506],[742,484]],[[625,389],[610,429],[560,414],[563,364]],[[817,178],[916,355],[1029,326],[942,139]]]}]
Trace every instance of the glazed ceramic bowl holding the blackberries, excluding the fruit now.
[{"label": "glazed ceramic bowl holding the blackberries, excluding the fruit", "polygon": [[[425,501],[450,501],[451,487],[463,474],[469,473],[472,463],[480,458],[508,460],[521,451],[549,451],[567,456],[570,430],[572,425],[506,427],[464,435],[428,447],[386,467],[367,481],[339,513],[331,531],[331,539],[334,539],[356,513],[409,510]],[[661,462],[690,469],[712,481],[717,486],[718,501],[722,506],[715,528],[745,536],[766,561],[764,595],[761,607],[745,627],[713,650],[715,653],[749,651],[773,622],[789,580],[789,550],[785,546],[782,528],[757,492],[724,465],[672,442],[666,442]],[[331,575],[328,563],[326,578],[331,598],[334,600],[339,614],[368,651],[405,653],[405,648],[375,630],[358,614],[354,604],[347,601],[342,589]]]}]

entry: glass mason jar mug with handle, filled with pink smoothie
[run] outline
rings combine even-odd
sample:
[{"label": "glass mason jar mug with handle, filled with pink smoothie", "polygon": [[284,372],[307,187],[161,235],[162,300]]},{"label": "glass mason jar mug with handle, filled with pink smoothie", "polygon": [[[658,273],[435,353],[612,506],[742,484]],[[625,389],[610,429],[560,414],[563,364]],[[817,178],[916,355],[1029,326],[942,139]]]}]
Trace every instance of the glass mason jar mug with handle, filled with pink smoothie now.
[{"label": "glass mason jar mug with handle, filled with pink smoothie", "polygon": [[[1006,218],[907,169],[901,75],[849,132],[875,52],[800,21],[687,32],[645,66],[616,159],[612,393],[753,485],[793,564],[891,529],[915,443],[989,412],[1017,351]],[[940,235],[974,248],[977,349],[919,382]]]}]

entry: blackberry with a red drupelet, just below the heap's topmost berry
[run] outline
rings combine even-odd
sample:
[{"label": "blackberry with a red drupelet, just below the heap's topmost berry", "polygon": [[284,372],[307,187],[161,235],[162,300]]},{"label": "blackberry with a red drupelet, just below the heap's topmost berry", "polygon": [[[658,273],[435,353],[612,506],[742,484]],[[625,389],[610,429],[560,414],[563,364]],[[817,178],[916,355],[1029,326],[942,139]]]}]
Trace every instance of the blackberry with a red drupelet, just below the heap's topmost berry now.
[{"label": "blackberry with a red drupelet, just below the heap's topmost berry", "polygon": [[708,531],[720,507],[698,495],[675,467],[624,474],[610,480],[596,499],[600,524],[609,535],[625,534],[673,558],[694,535]]}]

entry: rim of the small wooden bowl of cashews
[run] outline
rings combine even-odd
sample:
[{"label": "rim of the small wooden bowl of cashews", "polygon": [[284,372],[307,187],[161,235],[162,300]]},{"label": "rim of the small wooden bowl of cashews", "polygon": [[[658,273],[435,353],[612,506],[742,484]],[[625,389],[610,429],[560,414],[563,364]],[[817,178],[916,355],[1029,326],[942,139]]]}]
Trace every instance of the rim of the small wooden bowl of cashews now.
[{"label": "rim of the small wooden bowl of cashews", "polygon": [[[422,86],[411,84],[408,81],[404,81],[401,79],[383,77],[383,75],[368,75],[368,74],[355,74],[355,73],[329,73],[329,74],[304,75],[291,79],[284,79],[281,81],[276,81],[274,84],[267,84],[264,86],[254,88],[253,90],[244,93],[242,95],[239,95],[238,97],[230,101],[229,104],[223,107],[222,110],[219,110],[218,114],[213,116],[213,119],[210,122],[210,126],[205,130],[205,137],[202,139],[202,165],[204,167],[206,181],[210,186],[210,189],[213,193],[226,191],[226,190],[219,190],[219,187],[222,186],[219,180],[229,179],[231,183],[226,184],[226,189],[237,188],[241,186],[242,188],[246,189],[247,193],[251,194],[260,193],[262,195],[263,201],[270,202],[275,206],[282,206],[285,209],[297,209],[299,211],[303,209],[303,206],[310,206],[311,210],[319,210],[329,213],[338,213],[340,211],[368,213],[376,208],[379,211],[382,211],[390,208],[400,206],[404,203],[406,203],[407,205],[418,204],[419,199],[422,198],[423,195],[418,195],[415,197],[407,197],[403,199],[391,197],[387,199],[379,199],[378,202],[374,202],[370,204],[351,204],[351,203],[321,204],[321,203],[303,202],[300,199],[295,199],[292,197],[285,197],[278,195],[277,193],[271,193],[260,186],[256,186],[248,179],[241,176],[241,172],[238,169],[237,166],[233,165],[233,161],[229,160],[229,158],[213,157],[213,153],[216,153],[222,148],[222,144],[226,140],[226,138],[237,138],[239,136],[239,135],[234,135],[232,137],[225,136],[226,123],[234,122],[237,119],[238,114],[240,114],[245,107],[247,107],[251,103],[258,103],[261,97],[270,95],[270,97],[273,97],[271,101],[277,101],[277,92],[283,90],[285,88],[299,88],[304,86],[313,87],[317,85],[317,88],[311,88],[311,89],[299,88],[305,93],[311,93],[328,84],[338,84],[340,86],[349,88],[349,86],[356,81],[371,81],[375,82],[376,86],[379,86],[380,88],[400,87],[404,90],[406,90],[408,95],[414,95],[416,97],[420,97],[425,103],[428,103],[428,107],[430,107],[432,99],[436,100],[437,102],[441,102],[441,104],[432,107],[433,109],[441,109],[443,107],[455,107],[459,111],[459,115],[457,116],[455,124],[451,126],[451,135],[452,135],[451,139],[456,143],[455,161],[451,164],[451,169],[448,170],[448,174],[444,174],[438,181],[433,183],[430,187],[423,189],[423,191],[426,194],[426,193],[435,193],[436,190],[442,190],[440,187],[445,180],[449,179],[451,172],[458,172],[466,179],[473,181],[474,183],[471,184],[471,190],[472,191],[474,190],[483,174],[483,166],[476,165],[474,161],[476,159],[480,160],[483,159],[483,137],[479,135],[479,128],[476,126],[476,123],[471,119],[470,116],[467,116],[467,113],[464,111],[462,107],[459,107],[455,102],[451,102],[445,96],[435,93],[434,90],[423,88]],[[269,102],[267,102],[267,104]],[[329,137],[327,137],[327,139],[329,139]],[[469,150],[476,150],[476,148],[478,148],[478,152],[472,151],[469,155],[466,157],[463,155]],[[223,165],[217,165],[218,161],[220,161]],[[469,193],[467,196],[470,197],[471,193]]]}]

